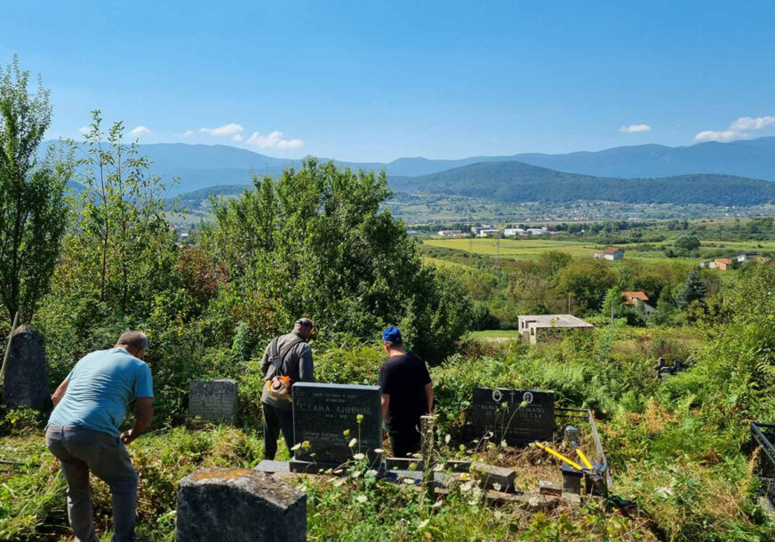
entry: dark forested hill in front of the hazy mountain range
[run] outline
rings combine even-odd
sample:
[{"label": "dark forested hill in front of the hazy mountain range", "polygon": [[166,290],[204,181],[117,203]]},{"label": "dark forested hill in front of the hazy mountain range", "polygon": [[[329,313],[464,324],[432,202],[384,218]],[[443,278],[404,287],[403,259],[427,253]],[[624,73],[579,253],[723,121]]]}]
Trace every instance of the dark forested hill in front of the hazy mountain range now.
[{"label": "dark forested hill in front of the hazy mountain range", "polygon": [[503,202],[775,203],[775,183],[731,175],[694,174],[659,179],[613,179],[554,171],[521,162],[475,163],[419,177],[389,178],[402,192],[482,197]]}]

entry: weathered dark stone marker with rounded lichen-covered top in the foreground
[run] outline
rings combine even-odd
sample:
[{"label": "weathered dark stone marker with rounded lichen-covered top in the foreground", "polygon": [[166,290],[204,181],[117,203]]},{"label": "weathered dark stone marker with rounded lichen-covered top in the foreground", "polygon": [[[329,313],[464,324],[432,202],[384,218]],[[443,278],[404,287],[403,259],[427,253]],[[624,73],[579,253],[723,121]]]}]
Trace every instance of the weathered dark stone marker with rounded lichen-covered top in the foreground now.
[{"label": "weathered dark stone marker with rounded lichen-covered top in the foreground", "polygon": [[302,541],[307,495],[266,473],[207,468],[178,482],[179,542]]}]

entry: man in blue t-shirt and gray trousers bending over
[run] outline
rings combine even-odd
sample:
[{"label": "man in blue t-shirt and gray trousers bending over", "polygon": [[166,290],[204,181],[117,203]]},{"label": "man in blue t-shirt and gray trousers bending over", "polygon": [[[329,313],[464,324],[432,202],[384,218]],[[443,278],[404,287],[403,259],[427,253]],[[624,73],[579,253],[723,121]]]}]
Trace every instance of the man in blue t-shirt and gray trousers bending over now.
[{"label": "man in blue t-shirt and gray trousers bending over", "polygon": [[[124,444],[135,440],[154,414],[153,379],[142,361],[148,337],[127,331],[116,347],[84,356],[52,395],[46,446],[68,481],[68,519],[76,540],[98,540],[92,520],[91,471],[110,487],[115,542],[134,540],[137,473]],[[121,433],[126,407],[137,400],[134,426]]]}]

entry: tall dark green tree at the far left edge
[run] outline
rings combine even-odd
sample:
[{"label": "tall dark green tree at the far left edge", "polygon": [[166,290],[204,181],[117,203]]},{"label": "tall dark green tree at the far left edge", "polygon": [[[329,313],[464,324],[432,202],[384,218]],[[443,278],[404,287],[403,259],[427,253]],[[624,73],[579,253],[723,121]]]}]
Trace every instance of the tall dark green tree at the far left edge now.
[{"label": "tall dark green tree at the far left edge", "polygon": [[39,148],[51,124],[50,92],[14,57],[0,79],[0,296],[9,318],[29,322],[48,291],[68,220],[65,185],[72,153]]}]

